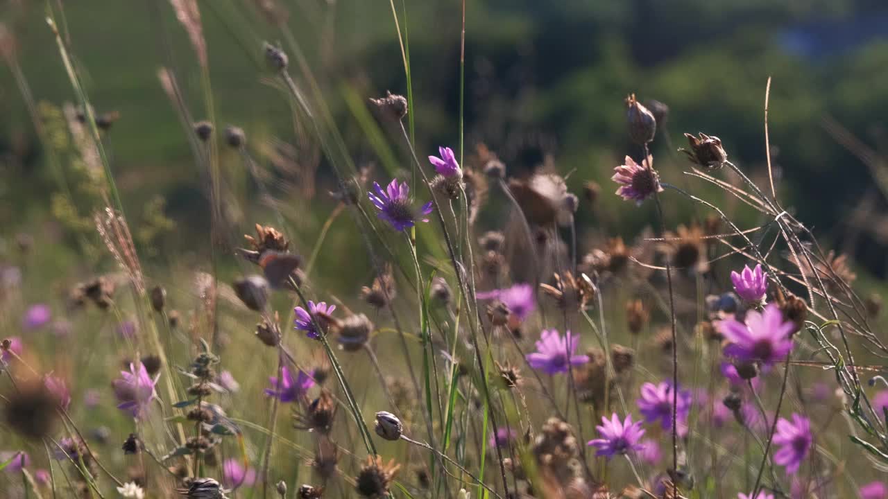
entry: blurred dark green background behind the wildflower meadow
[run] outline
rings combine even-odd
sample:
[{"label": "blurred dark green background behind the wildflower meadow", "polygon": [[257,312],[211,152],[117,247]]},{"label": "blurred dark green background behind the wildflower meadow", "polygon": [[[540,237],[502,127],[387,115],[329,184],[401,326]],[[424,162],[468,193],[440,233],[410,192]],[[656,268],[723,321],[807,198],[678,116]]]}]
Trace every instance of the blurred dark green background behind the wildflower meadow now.
[{"label": "blurred dark green background behind the wildflower meadow", "polygon": [[[406,93],[391,4],[383,0],[199,4],[218,128],[226,123],[242,126],[261,168],[272,170],[274,154],[269,151],[281,142],[298,145],[305,139],[305,131],[294,127],[281,91],[269,84],[270,74],[262,64],[262,43],[286,38],[271,20],[285,20],[294,34],[354,161],[359,165],[377,161],[364,129],[345,105],[345,95],[351,92],[365,99],[386,89]],[[399,21],[408,34],[418,152],[422,157],[440,144],[456,147],[461,3],[398,0],[395,4],[399,13],[407,12]],[[61,12],[59,5],[64,7],[59,24],[69,35],[75,64],[96,111],[120,113],[106,144],[128,216],[155,219],[161,227],[157,234],[146,236],[157,246],[148,256],[201,259],[208,249],[183,235],[207,232],[208,202],[186,131],[163,92],[158,69],[175,71],[195,119],[207,112],[200,66],[170,3],[54,0],[49,5],[56,15]],[[58,107],[76,99],[44,22],[46,6],[5,2],[0,12],[34,99]],[[266,15],[269,7],[277,9],[271,20]],[[629,204],[610,195],[613,167],[624,154],[640,156],[625,132],[622,99],[629,92],[642,101],[657,99],[670,107],[668,126],[658,132],[653,150],[654,161],[669,181],[679,185],[687,181],[680,178],[686,163],[674,154],[684,145],[686,131],[718,135],[734,162],[764,180],[763,105],[765,83],[772,76],[770,131],[783,199],[817,234],[853,253],[871,273],[884,275],[888,236],[879,226],[888,190],[873,172],[886,167],[880,152],[888,152],[888,4],[878,0],[470,0],[465,16],[466,154],[484,143],[518,176],[551,155],[559,171],[572,172],[568,185],[575,191],[588,179],[598,181],[603,193],[599,208],[581,208],[581,226],[603,224],[602,218],[614,219],[618,210],[625,213],[619,214],[619,224],[607,227],[608,232],[636,234],[649,223],[650,212],[628,210]],[[294,55],[290,57],[292,61]],[[291,72],[305,83],[298,68]],[[24,231],[73,238],[64,224],[62,230],[57,224],[47,226],[59,183],[7,67],[0,71],[0,106],[4,235],[11,238]],[[834,124],[829,128],[824,123]],[[866,147],[858,145],[852,152],[847,144],[839,144],[836,126]],[[392,143],[396,141],[397,136],[392,137]],[[333,178],[322,159],[311,159],[320,155],[316,147],[295,150],[299,168],[318,170],[317,189],[300,185],[310,183],[313,176],[279,177],[280,186],[292,188],[281,187],[273,195],[279,206],[296,211],[290,221],[298,229],[297,249],[307,252],[335,206],[326,194]],[[408,156],[401,152],[397,157],[408,168]],[[258,187],[250,182],[238,154],[225,147],[221,154],[232,205],[242,213],[234,218],[238,223],[234,232],[251,232],[257,221],[274,223],[271,211],[260,206]],[[305,167],[302,162],[314,164]],[[384,180],[385,173],[377,168],[373,178]],[[55,210],[57,215],[64,211],[58,203]],[[87,203],[77,210],[79,216],[89,216],[94,208]],[[852,217],[855,210],[867,217]],[[163,228],[159,213],[174,220],[175,228]],[[691,214],[686,211],[673,219]],[[89,237],[94,240],[94,235]],[[337,241],[347,243],[348,237],[334,231],[327,249],[336,248]],[[332,265],[338,256],[335,249],[325,250],[319,262]]]}]

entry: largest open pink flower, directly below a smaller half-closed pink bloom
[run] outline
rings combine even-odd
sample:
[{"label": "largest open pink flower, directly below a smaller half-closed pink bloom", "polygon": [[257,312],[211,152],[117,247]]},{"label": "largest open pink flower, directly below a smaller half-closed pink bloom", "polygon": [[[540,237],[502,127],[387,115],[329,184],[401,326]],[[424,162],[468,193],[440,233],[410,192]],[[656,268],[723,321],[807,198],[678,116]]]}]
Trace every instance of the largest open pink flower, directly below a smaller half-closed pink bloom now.
[{"label": "largest open pink flower, directly below a smaller half-closed pink bloom", "polygon": [[758,361],[770,366],[783,360],[792,350],[789,335],[795,329],[790,321],[783,321],[783,314],[777,305],[765,306],[765,312],[749,310],[746,324],[735,319],[716,323],[718,332],[730,342],[725,346],[725,355],[740,360]]}]

